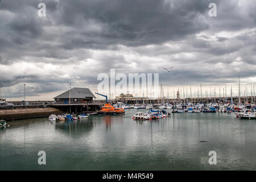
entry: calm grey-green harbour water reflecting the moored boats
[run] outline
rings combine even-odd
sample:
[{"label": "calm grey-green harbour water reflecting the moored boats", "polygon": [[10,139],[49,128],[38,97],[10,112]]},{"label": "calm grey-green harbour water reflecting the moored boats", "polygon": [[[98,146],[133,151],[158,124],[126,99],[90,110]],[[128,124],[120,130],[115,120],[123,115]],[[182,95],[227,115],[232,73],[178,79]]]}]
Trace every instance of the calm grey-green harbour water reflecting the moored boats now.
[{"label": "calm grey-green harbour water reflecting the moored boats", "polygon": [[[256,170],[255,120],[174,113],[134,121],[137,111],[72,122],[9,122],[0,130],[0,170]],[[46,152],[46,165],[38,164],[39,151]],[[209,151],[216,151],[216,165],[208,163]]]}]

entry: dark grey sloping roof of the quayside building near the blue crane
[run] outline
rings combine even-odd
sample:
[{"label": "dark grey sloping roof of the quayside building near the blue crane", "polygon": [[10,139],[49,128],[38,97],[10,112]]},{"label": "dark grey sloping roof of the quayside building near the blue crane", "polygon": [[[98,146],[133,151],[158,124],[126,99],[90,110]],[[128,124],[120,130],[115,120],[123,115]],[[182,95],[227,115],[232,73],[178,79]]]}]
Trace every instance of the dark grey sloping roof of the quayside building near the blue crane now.
[{"label": "dark grey sloping roof of the quayside building near the blue crane", "polygon": [[[86,98],[86,97],[96,98],[88,88],[72,88],[70,90],[70,98]],[[61,93],[59,96],[56,96],[54,98],[69,98],[69,90],[67,90],[64,93]]]}]

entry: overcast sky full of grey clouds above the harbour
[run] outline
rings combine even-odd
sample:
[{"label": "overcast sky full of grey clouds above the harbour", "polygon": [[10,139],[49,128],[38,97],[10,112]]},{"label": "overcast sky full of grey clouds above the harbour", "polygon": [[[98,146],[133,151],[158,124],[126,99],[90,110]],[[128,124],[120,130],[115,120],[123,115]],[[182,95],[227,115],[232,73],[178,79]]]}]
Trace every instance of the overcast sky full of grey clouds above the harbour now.
[{"label": "overcast sky full of grey clouds above the harbour", "polygon": [[[38,15],[46,4],[46,17]],[[216,3],[217,16],[209,16]],[[2,97],[52,100],[72,87],[97,92],[100,73],[159,73],[174,97],[256,78],[254,0],[0,0]],[[163,68],[172,68],[171,72]],[[182,91],[183,92],[183,91]],[[117,94],[117,93],[116,93]],[[186,94],[186,93],[185,93]],[[103,98],[102,98],[103,99]]]}]

